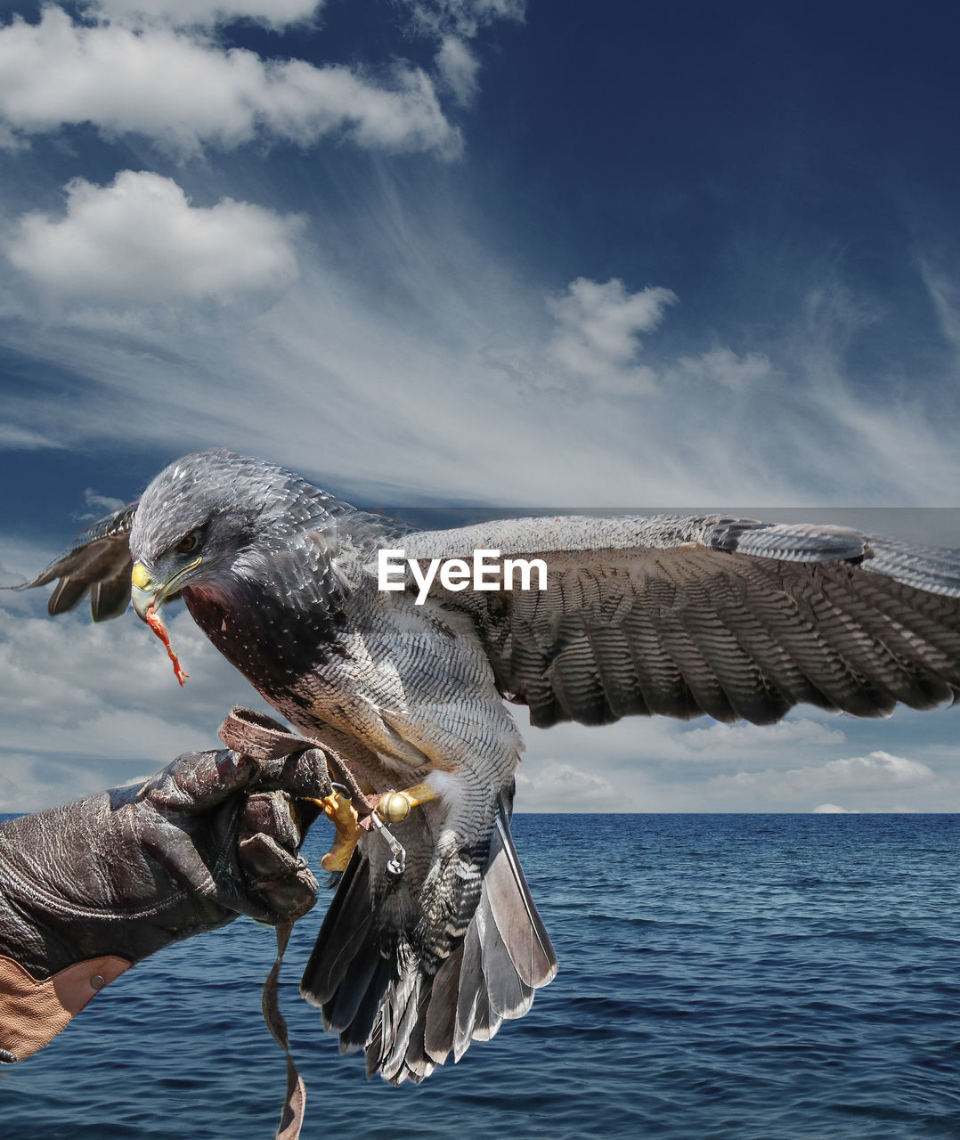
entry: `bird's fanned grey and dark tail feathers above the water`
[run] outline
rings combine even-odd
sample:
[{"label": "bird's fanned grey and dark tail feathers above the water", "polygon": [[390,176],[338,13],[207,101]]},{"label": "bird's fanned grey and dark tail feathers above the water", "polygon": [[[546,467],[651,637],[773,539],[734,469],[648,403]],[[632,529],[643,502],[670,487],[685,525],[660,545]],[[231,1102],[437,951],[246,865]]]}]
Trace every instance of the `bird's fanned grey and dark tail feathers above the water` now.
[{"label": "bird's fanned grey and dark tail feathers above the water", "polygon": [[418,1083],[450,1052],[457,1061],[471,1041],[489,1041],[503,1021],[522,1017],[534,991],[556,974],[509,819],[509,801],[501,797],[475,911],[440,960],[417,952],[402,933],[382,929],[368,861],[355,853],[301,993],[320,1005],[325,1028],[340,1034],[341,1051],[365,1048],[368,1076],[379,1072],[393,1084]]}]

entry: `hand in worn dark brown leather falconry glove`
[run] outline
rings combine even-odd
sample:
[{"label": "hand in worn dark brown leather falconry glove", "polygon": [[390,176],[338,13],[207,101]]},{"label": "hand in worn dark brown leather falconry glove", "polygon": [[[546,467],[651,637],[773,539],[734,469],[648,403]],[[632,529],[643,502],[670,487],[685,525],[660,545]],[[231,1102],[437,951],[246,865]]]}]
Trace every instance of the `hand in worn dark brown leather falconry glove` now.
[{"label": "hand in worn dark brown leather falconry glove", "polygon": [[0,825],[0,1060],[42,1048],[171,942],[310,910],[317,881],[298,852],[319,809],[300,797],[331,787],[306,743],[279,757],[188,752],[139,787]]}]

